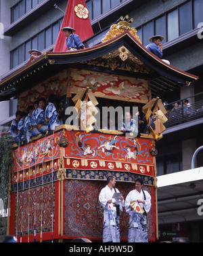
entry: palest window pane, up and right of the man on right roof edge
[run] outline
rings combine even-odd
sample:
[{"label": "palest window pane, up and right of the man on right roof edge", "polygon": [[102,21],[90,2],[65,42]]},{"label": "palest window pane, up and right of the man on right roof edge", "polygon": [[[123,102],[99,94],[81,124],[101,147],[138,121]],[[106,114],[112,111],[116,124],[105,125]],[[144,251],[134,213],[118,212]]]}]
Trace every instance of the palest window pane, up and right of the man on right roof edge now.
[{"label": "palest window pane, up and right of the man on right roof edge", "polygon": [[168,13],[168,41],[179,37],[179,17],[178,10]]}]

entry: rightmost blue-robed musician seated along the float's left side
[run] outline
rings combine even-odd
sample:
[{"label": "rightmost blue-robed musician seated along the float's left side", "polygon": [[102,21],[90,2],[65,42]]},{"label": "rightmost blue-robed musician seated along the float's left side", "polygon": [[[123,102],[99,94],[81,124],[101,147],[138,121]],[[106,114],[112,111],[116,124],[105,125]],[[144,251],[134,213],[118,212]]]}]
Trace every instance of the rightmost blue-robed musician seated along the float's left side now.
[{"label": "rightmost blue-robed musician seated along the float's left side", "polygon": [[56,103],[57,103],[57,97],[55,96],[55,94],[51,94],[49,96],[49,105],[47,105],[45,110],[46,127],[44,127],[44,129],[48,131],[55,130],[57,126],[60,126],[62,124],[59,121],[58,111],[55,108]]}]

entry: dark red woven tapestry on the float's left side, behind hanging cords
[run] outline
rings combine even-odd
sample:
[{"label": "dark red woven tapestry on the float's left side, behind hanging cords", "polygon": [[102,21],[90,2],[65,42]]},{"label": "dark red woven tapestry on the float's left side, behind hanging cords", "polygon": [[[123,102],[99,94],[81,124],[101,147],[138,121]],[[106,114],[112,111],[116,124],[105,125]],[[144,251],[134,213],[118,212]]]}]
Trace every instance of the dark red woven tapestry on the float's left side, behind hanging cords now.
[{"label": "dark red woven tapestry on the float's left side, behind hanging cords", "polygon": [[[54,213],[54,183],[27,189],[16,194],[16,227],[15,234],[24,236],[41,231],[51,232],[52,213]],[[54,219],[53,219],[54,221]],[[53,222],[54,227],[54,222]]]}]

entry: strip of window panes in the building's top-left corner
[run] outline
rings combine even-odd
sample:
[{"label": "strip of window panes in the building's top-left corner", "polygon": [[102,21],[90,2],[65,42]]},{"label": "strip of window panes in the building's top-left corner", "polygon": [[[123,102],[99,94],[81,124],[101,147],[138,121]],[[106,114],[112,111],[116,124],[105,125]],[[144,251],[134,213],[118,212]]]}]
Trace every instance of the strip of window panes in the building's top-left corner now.
[{"label": "strip of window panes in the building's top-left corner", "polygon": [[44,0],[21,0],[19,1],[14,7],[11,8],[12,12],[12,20],[11,22],[14,22],[18,20],[21,16],[26,14],[26,12],[29,12],[32,8],[34,8],[36,5],[41,3]]}]

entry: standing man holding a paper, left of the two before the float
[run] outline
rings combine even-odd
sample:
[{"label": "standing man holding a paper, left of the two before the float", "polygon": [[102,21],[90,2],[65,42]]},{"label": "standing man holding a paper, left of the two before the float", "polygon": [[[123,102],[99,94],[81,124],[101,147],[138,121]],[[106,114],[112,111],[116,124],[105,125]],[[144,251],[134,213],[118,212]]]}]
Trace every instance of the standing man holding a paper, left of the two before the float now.
[{"label": "standing man holding a paper, left of the two before the float", "polygon": [[120,242],[119,211],[122,211],[125,200],[122,195],[119,199],[113,198],[115,193],[118,197],[120,194],[115,185],[116,179],[108,177],[106,187],[99,194],[99,202],[104,208],[103,242]]}]

